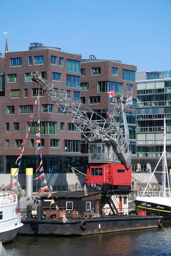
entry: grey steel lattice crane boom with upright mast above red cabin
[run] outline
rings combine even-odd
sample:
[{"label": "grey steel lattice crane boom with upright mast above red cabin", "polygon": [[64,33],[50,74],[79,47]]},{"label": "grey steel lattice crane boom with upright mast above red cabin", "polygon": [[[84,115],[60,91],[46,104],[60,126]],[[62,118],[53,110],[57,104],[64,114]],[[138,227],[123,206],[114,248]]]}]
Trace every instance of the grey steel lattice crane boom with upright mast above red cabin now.
[{"label": "grey steel lattice crane boom with upright mast above red cabin", "polygon": [[[41,78],[38,73],[31,73],[31,76],[32,81],[38,83],[58,108],[60,108],[61,112],[76,126],[87,143],[99,142],[110,145],[116,151],[126,169],[130,167],[131,151],[122,95],[116,96],[111,120],[107,121],[57,85]],[[111,162],[114,162],[114,158]]]}]

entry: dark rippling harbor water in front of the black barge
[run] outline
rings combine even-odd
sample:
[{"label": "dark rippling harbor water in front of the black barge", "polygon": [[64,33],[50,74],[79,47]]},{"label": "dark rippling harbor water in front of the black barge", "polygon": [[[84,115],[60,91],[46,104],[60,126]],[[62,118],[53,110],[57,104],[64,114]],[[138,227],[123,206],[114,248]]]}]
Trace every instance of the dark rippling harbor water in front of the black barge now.
[{"label": "dark rippling harbor water in front of the black barge", "polygon": [[4,244],[9,256],[170,256],[171,227],[90,236],[21,236]]}]

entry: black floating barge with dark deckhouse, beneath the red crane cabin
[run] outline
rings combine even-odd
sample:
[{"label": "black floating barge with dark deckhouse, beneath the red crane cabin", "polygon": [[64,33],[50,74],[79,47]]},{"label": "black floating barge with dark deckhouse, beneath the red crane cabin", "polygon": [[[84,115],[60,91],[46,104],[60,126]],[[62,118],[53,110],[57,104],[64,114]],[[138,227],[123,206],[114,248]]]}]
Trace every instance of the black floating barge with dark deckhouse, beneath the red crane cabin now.
[{"label": "black floating barge with dark deckhouse, beneath the red crane cabin", "polygon": [[[55,207],[52,207],[50,214],[51,199],[42,196],[37,212],[32,211],[32,206],[28,205],[27,216],[26,219],[22,219],[23,227],[20,228],[19,234],[83,236],[162,227],[162,219],[159,216],[146,216],[145,211],[131,215],[128,208],[117,209],[116,203],[114,206],[112,203],[113,196],[115,197],[113,200],[120,201],[119,195],[117,198],[112,192],[109,195],[101,191],[90,191],[86,195],[83,191],[56,192],[53,194],[53,199],[59,210],[55,211]],[[90,207],[90,210],[85,206]],[[62,213],[62,217],[59,213]],[[42,219],[43,214],[46,219]],[[33,219],[34,217],[36,219]],[[64,218],[67,219],[65,223]]]}]

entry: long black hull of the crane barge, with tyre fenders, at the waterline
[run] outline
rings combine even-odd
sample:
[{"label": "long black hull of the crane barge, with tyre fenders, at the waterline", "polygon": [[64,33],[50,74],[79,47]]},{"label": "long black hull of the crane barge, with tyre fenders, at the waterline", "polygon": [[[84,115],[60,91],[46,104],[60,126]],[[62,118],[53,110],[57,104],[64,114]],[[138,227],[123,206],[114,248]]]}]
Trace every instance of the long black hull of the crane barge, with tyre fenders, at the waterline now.
[{"label": "long black hull of the crane barge, with tyre fenders, at the waterline", "polygon": [[109,233],[116,231],[137,230],[162,226],[162,220],[151,216],[122,218],[93,218],[84,220],[22,220],[23,227],[19,234],[40,235],[77,235]]}]

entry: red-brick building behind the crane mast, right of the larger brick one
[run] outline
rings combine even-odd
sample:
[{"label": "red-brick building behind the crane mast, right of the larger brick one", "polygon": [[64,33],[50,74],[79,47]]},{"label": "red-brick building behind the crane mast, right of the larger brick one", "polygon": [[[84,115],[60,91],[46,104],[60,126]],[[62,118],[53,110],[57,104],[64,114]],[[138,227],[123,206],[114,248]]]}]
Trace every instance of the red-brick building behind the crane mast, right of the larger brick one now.
[{"label": "red-brick building behind the crane mast, right of the larger brick one", "polygon": [[[107,92],[123,94],[123,99],[131,96],[133,105],[125,106],[132,154],[136,155],[136,66],[122,64],[121,61],[98,60],[94,55],[81,61],[81,102],[89,106],[105,119],[113,109],[113,98]],[[82,140],[82,145],[86,143]],[[87,147],[83,146],[87,153]],[[82,153],[84,153],[82,151]]]}]

